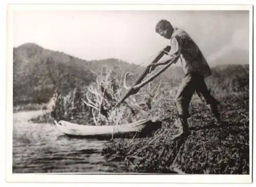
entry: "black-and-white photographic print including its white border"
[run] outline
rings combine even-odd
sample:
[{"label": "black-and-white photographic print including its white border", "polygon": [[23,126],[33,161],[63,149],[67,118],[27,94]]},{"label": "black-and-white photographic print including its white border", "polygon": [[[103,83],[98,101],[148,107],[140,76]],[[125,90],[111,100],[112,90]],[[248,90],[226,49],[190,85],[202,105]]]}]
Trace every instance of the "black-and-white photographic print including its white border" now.
[{"label": "black-and-white photographic print including its white border", "polygon": [[7,8],[12,176],[251,181],[252,6],[74,7]]}]

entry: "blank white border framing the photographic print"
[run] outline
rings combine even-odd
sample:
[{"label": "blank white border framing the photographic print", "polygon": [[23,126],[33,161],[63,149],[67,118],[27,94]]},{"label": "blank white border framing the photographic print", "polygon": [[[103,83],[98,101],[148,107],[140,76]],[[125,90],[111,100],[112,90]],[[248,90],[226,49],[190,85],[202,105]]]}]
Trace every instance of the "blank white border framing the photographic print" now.
[{"label": "blank white border framing the photographic print", "polygon": [[[120,174],[120,173],[54,173],[13,174],[12,173],[12,129],[13,122],[13,12],[15,10],[248,10],[249,11],[249,175],[172,175],[172,174]],[[250,183],[252,181],[252,122],[253,122],[253,33],[251,5],[8,5],[7,8],[7,139],[6,139],[6,181],[10,182],[97,182],[97,183]],[[118,177],[116,176],[118,175]]]}]

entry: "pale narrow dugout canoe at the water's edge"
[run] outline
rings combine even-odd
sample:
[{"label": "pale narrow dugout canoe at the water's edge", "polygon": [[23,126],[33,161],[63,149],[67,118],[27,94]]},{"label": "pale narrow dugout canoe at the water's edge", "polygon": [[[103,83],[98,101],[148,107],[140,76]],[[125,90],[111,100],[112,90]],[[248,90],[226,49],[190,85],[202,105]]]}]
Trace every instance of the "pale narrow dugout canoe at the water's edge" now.
[{"label": "pale narrow dugout canoe at the water's edge", "polygon": [[54,121],[54,123],[62,133],[71,137],[103,139],[109,139],[112,137],[144,137],[152,134],[153,131],[161,127],[161,122],[152,122],[148,119],[115,126],[79,125],[63,120],[59,122]]}]

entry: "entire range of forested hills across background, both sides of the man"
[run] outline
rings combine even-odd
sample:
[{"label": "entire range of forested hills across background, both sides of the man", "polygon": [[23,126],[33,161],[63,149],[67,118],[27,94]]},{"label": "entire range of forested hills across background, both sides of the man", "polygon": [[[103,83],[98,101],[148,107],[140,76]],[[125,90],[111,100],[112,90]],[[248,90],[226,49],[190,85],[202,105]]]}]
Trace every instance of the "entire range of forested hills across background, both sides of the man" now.
[{"label": "entire range of forested hills across background, both sides of the man", "polygon": [[[77,86],[87,86],[95,81],[103,66],[109,66],[118,75],[143,71],[143,67],[119,59],[87,61],[44,49],[35,43],[20,45],[13,49],[14,105],[47,102],[55,90],[65,94]],[[248,88],[248,65],[220,65],[212,68],[212,73],[206,81],[218,89]],[[171,87],[178,86],[182,77],[179,67],[170,67],[158,79],[169,82]]]}]

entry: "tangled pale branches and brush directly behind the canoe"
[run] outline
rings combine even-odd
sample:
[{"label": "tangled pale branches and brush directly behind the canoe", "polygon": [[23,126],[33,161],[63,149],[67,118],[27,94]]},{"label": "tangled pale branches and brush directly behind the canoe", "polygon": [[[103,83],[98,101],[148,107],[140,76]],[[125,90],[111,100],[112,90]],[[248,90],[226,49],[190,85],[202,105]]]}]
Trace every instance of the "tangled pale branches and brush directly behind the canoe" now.
[{"label": "tangled pale branches and brush directly behind the canoe", "polygon": [[[148,84],[138,94],[127,98],[119,107],[111,110],[131,83],[131,73],[118,77],[104,67],[97,79],[88,87],[75,88],[66,96],[55,93],[49,102],[49,111],[55,120],[65,120],[86,125],[117,125],[141,119],[156,119],[154,105],[158,103],[161,82]],[[160,108],[158,113],[161,113]]]}]

